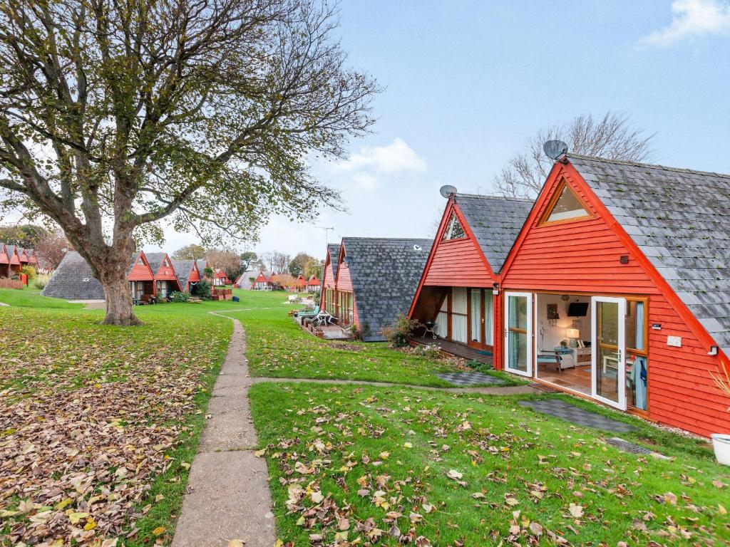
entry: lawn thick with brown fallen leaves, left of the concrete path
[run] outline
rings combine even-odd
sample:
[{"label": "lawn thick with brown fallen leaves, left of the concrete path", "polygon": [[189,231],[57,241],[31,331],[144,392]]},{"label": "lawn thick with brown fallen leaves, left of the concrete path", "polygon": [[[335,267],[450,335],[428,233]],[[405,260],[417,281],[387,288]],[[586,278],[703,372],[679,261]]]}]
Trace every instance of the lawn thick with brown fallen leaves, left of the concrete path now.
[{"label": "lawn thick with brown fallen leaves, left of the concrete path", "polygon": [[0,301],[0,544],[168,540],[231,322],[169,304],[106,327],[31,291]]}]

